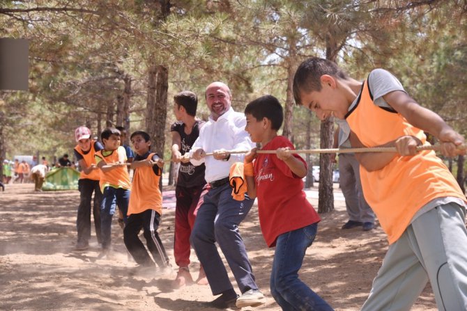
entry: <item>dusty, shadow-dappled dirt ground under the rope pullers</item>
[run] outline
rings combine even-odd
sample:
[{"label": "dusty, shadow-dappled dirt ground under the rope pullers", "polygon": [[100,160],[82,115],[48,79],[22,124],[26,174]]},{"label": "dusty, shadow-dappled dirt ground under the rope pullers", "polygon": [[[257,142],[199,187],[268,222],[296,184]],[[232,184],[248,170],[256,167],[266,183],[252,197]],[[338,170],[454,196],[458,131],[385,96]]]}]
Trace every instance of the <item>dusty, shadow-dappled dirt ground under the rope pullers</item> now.
[{"label": "dusty, shadow-dappled dirt ground under the rope pullers", "polygon": [[[336,190],[338,191],[338,190]],[[310,199],[316,207],[317,200]],[[210,288],[191,285],[171,289],[176,268],[161,275],[132,275],[123,232],[116,219],[112,239],[114,260],[98,259],[95,235],[84,252],[72,251],[78,191],[34,193],[33,184],[13,184],[0,192],[0,310],[215,310]],[[365,301],[388,244],[376,230],[340,230],[346,221],[344,202],[322,214],[319,233],[301,269],[302,278],[335,310],[359,310]],[[174,209],[164,209],[160,236],[171,264]],[[266,248],[257,208],[240,226],[254,274],[266,304],[243,310],[280,310],[269,291],[273,249]],[[199,262],[192,254],[191,271],[197,277]],[[231,277],[233,284],[236,283]],[[429,285],[413,310],[436,310]]]}]

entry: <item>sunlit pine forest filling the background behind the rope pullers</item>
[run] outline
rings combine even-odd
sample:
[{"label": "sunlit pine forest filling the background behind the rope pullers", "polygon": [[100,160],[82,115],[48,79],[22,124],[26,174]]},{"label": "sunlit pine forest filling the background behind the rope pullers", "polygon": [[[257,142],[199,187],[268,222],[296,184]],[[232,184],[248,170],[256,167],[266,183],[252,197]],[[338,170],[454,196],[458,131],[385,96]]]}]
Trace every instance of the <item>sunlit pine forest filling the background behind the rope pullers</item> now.
[{"label": "sunlit pine forest filling the background behind the rope pullers", "polygon": [[[296,148],[331,147],[333,120],[293,102],[293,74],[309,56],[356,79],[390,70],[466,136],[466,13],[466,0],[0,0],[0,37],[29,40],[29,91],[0,91],[0,158],[55,159],[72,154],[76,127],[100,136],[122,125],[148,131],[168,159],[173,96],[197,93],[206,120],[213,81],[231,88],[236,111],[275,95]],[[464,187],[464,157],[445,160]],[[307,161],[321,167],[319,212],[327,212],[330,156]]]}]

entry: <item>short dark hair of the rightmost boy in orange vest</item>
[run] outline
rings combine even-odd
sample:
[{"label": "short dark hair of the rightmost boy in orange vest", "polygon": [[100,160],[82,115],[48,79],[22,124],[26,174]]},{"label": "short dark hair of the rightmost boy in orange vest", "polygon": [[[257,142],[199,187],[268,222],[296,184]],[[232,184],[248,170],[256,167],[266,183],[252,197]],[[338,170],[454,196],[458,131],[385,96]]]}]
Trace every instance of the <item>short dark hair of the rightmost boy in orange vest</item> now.
[{"label": "short dark hair of the rightmost boy in orange vest", "polygon": [[293,77],[293,97],[296,104],[302,104],[300,92],[311,93],[321,90],[321,76],[329,74],[340,79],[348,79],[349,76],[333,61],[328,59],[312,57],[303,61],[298,66]]}]

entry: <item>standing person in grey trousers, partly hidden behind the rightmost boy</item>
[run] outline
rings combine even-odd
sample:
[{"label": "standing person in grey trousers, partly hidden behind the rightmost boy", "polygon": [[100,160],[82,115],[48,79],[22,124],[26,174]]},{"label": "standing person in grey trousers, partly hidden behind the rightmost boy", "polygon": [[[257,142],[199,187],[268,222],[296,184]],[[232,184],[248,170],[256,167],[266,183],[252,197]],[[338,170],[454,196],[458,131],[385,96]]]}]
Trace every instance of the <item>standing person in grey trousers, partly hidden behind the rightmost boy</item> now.
[{"label": "standing person in grey trousers, partly hidden behind the rightmost boy", "polygon": [[[350,148],[350,128],[344,120],[336,119],[337,129],[334,133],[333,148]],[[331,154],[331,161],[335,162],[336,154]],[[346,202],[349,221],[342,225],[342,229],[362,227],[363,231],[374,228],[374,212],[363,196],[360,182],[360,164],[353,153],[339,153],[339,186]]]}]

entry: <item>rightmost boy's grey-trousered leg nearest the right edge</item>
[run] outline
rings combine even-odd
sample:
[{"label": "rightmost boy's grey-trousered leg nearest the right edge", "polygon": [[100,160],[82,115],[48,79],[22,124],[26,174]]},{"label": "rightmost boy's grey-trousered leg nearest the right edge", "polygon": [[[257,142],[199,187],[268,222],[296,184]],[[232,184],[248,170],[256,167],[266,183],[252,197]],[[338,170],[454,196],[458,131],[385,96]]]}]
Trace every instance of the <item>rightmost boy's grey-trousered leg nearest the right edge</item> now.
[{"label": "rightmost boy's grey-trousered leg nearest the right edge", "polygon": [[448,203],[422,214],[412,225],[438,310],[467,310],[464,215],[464,208]]}]

